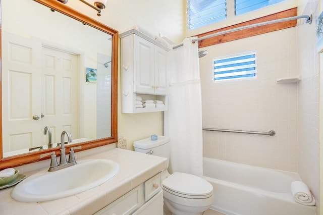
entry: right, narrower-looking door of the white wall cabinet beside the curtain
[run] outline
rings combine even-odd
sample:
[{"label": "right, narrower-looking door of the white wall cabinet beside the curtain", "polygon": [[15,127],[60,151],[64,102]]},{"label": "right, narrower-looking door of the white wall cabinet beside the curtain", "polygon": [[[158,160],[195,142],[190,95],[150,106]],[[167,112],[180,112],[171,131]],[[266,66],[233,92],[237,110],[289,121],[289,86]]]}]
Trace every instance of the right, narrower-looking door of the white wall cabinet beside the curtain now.
[{"label": "right, narrower-looking door of the white wall cabinet beside the curtain", "polygon": [[158,95],[167,95],[168,86],[167,86],[167,55],[168,51],[155,46],[155,68],[154,68],[154,88],[155,94]]}]

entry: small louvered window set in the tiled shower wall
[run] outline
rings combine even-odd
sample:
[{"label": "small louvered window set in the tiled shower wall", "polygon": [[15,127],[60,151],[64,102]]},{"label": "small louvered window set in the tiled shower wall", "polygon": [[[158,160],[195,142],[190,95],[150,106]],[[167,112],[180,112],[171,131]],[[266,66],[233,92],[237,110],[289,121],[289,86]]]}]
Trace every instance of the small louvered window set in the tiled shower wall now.
[{"label": "small louvered window set in the tiled shower wall", "polygon": [[256,52],[213,59],[213,80],[254,78],[256,76]]}]

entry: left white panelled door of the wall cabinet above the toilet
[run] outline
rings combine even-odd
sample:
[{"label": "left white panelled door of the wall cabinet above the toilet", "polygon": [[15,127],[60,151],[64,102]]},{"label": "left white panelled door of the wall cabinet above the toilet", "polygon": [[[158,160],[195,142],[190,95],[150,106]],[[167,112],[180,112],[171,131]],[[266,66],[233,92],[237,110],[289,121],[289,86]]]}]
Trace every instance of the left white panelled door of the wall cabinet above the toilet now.
[{"label": "left white panelled door of the wall cabinet above the toilet", "polygon": [[154,93],[154,44],[134,35],[134,85],[136,93]]}]

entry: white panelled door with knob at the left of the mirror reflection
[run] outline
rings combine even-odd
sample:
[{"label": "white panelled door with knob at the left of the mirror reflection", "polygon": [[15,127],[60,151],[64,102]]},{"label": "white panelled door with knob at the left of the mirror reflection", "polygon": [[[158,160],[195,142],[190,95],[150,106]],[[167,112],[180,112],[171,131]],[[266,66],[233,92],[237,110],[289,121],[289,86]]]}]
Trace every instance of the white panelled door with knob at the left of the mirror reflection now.
[{"label": "white panelled door with knob at the left of the mirror reflection", "polygon": [[[41,43],[2,33],[3,151],[33,147],[41,142]],[[38,59],[38,61],[35,61]],[[39,144],[38,144],[39,145]]]}]

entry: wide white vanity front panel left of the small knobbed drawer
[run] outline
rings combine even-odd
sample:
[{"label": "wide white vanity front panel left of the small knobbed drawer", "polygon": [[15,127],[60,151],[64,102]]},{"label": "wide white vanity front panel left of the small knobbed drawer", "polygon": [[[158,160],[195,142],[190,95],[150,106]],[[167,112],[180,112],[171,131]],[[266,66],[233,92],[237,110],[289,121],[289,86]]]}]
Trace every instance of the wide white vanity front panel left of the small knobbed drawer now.
[{"label": "wide white vanity front panel left of the small knobbed drawer", "polygon": [[143,195],[143,184],[140,184],[129,193],[96,212],[95,215],[131,214],[144,203]]}]

